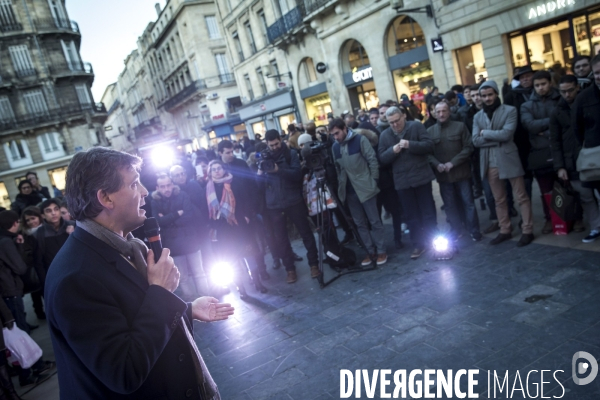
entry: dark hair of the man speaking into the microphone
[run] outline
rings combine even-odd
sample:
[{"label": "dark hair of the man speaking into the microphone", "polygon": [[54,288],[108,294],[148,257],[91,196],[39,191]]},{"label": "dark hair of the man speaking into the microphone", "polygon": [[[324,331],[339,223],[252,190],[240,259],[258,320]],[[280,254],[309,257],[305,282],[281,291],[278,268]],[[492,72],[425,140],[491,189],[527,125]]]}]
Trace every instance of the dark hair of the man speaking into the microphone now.
[{"label": "dark hair of the man speaking into the microphone", "polygon": [[98,191],[118,192],[123,186],[121,171],[139,171],[141,165],[138,156],[106,147],[76,153],[69,163],[65,185],[67,208],[73,219],[97,217],[104,209]]}]

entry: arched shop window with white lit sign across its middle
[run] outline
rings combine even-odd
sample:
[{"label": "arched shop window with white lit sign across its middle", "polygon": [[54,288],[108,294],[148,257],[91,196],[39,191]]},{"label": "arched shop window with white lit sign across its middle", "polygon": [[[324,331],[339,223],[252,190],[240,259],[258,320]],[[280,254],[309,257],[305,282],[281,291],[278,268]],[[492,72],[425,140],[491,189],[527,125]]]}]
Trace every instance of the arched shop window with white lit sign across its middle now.
[{"label": "arched shop window with white lit sign across its middle", "polygon": [[379,105],[379,97],[373,81],[373,69],[369,62],[369,54],[363,45],[354,39],[342,46],[342,68],[344,84],[348,88],[352,112],[358,109],[365,111]]}]

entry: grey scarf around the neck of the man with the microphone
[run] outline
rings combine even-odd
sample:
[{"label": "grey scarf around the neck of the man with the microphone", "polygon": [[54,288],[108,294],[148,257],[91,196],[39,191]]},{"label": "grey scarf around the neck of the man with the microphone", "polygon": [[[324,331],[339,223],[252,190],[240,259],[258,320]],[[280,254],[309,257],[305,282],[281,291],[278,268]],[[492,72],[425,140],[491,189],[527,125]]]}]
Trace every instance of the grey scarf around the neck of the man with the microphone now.
[{"label": "grey scarf around the neck of the man with the microphone", "polygon": [[76,223],[78,227],[125,256],[133,263],[135,269],[144,279],[148,280],[148,265],[146,263],[148,247],[142,240],[135,238],[131,233],[128,233],[127,237],[124,238],[91,219],[77,221]]}]

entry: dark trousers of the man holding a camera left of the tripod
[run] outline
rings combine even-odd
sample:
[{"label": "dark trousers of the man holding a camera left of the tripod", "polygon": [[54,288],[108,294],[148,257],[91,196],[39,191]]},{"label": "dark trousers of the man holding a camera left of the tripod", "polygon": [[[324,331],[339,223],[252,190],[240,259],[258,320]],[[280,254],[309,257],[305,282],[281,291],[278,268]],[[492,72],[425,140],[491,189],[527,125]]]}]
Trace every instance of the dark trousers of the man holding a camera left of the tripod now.
[{"label": "dark trousers of the man holding a camera left of the tripod", "polygon": [[306,208],[304,202],[300,202],[283,209],[267,210],[266,214],[269,215],[269,219],[273,225],[273,234],[276,246],[284,251],[281,258],[287,271],[294,271],[296,267],[294,266],[294,254],[291,251],[291,247],[286,249],[285,241],[287,240],[289,242],[285,223],[286,217],[292,221],[298,230],[300,237],[302,238],[302,242],[306,248],[308,265],[312,266],[319,264],[317,241],[315,240],[315,236],[313,235],[310,224],[308,223],[308,209]]}]

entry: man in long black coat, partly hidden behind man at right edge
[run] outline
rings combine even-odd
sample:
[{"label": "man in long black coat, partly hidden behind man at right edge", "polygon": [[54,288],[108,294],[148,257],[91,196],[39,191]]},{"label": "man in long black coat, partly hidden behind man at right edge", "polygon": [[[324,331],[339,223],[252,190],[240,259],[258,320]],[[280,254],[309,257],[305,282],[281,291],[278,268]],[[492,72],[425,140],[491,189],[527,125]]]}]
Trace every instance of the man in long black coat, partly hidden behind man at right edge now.
[{"label": "man in long black coat, partly hidden behind man at right edge", "polygon": [[569,182],[579,193],[584,215],[591,227],[590,234],[583,238],[583,242],[591,243],[600,237],[600,209],[594,190],[583,186],[577,172],[577,157],[581,145],[571,129],[571,107],[579,93],[577,78],[573,75],[560,78],[559,91],[562,98],[550,116],[552,162],[558,178]]}]

